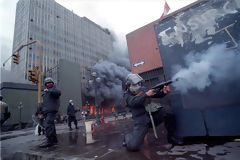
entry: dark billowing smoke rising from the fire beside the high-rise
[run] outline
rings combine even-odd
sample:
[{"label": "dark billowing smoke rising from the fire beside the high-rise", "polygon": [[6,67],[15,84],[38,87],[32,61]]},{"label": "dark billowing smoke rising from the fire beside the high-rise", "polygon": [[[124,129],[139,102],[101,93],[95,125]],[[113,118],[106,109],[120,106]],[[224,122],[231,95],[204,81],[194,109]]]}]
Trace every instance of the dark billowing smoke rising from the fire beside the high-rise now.
[{"label": "dark billowing smoke rising from the fire beside the high-rise", "polygon": [[[97,101],[101,104],[105,99],[121,104],[123,97],[122,83],[130,73],[130,62],[126,46],[121,45],[119,39],[113,36],[113,53],[107,60],[101,60],[92,67],[97,72],[100,81],[97,82]],[[90,85],[87,95],[95,97],[94,86]]]}]

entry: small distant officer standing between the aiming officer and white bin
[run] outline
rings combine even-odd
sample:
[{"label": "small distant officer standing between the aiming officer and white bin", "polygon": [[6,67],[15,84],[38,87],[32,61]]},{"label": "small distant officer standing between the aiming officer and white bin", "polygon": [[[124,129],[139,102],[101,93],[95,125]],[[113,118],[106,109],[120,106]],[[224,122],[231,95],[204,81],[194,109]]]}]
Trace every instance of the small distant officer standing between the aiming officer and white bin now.
[{"label": "small distant officer standing between the aiming officer and white bin", "polygon": [[77,119],[75,116],[75,113],[78,110],[75,110],[73,100],[69,100],[68,108],[67,108],[67,115],[68,115],[68,127],[69,130],[72,130],[72,122],[75,124],[75,128],[78,129],[77,127]]}]

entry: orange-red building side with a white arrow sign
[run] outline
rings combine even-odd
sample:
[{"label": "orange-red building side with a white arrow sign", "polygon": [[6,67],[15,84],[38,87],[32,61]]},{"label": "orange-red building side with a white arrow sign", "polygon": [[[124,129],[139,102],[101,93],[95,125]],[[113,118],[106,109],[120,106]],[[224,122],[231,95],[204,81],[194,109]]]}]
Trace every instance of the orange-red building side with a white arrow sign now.
[{"label": "orange-red building side with a white arrow sign", "polygon": [[126,35],[131,71],[143,77],[147,86],[164,80],[163,63],[154,30],[158,20]]}]

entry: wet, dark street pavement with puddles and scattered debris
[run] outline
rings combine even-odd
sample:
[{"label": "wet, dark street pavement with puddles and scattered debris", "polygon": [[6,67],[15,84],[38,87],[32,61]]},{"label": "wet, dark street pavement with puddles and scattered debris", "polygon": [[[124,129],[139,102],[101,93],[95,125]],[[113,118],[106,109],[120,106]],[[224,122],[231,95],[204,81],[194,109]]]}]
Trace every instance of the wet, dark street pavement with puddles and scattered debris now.
[{"label": "wet, dark street pavement with puddles and scattered debris", "polygon": [[[107,120],[106,120],[107,121]],[[106,122],[105,121],[105,122]],[[14,131],[1,135],[1,157],[8,159],[96,159],[96,160],[238,160],[240,142],[236,138],[195,137],[185,140],[183,146],[171,146],[166,141],[163,125],[158,127],[159,139],[150,130],[139,152],[128,152],[121,146],[124,133],[131,130],[132,120],[110,118],[96,128],[94,143],[86,144],[82,122],[78,130],[69,131],[66,124],[57,125],[59,143],[40,149],[44,136],[36,136],[33,130]]]}]

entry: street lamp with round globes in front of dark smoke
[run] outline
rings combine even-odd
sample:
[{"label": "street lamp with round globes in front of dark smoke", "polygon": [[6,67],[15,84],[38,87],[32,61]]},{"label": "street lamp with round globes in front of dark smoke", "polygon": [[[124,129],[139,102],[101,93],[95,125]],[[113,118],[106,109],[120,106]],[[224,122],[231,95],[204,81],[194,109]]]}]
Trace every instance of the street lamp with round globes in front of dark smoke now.
[{"label": "street lamp with round globes in front of dark smoke", "polygon": [[97,72],[92,72],[92,79],[90,79],[88,82],[90,85],[93,85],[94,87],[94,103],[97,110],[97,116],[96,116],[96,123],[100,124],[100,115],[99,115],[99,104],[98,104],[98,90],[97,90],[97,84],[101,81],[101,78],[97,76]]}]

